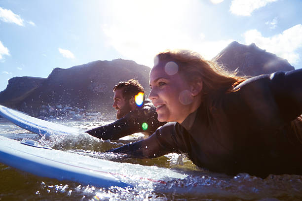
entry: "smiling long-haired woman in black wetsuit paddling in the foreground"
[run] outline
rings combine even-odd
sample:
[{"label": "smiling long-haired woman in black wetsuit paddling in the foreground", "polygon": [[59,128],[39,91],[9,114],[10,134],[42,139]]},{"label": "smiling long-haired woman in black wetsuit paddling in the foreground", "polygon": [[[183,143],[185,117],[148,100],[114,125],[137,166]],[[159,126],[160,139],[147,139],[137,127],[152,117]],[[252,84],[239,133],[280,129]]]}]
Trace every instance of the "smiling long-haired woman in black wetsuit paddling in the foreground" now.
[{"label": "smiling long-haired woman in black wetsuit paddling in the foreground", "polygon": [[185,152],[195,165],[227,174],[302,174],[301,79],[301,69],[247,79],[191,51],[159,53],[149,98],[158,120],[170,123],[110,151]]}]

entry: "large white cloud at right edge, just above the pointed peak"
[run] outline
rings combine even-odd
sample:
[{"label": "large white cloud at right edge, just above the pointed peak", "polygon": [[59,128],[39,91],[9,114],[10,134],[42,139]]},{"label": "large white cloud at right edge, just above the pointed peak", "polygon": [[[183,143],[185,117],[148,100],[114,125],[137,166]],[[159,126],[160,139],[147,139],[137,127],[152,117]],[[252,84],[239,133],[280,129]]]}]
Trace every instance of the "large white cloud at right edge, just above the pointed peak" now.
[{"label": "large white cloud at right edge, just above the pointed peak", "polygon": [[302,25],[298,24],[284,32],[264,37],[257,30],[250,30],[244,33],[246,44],[254,42],[261,49],[276,54],[278,57],[287,59],[292,65],[300,61],[297,50],[302,47]]}]

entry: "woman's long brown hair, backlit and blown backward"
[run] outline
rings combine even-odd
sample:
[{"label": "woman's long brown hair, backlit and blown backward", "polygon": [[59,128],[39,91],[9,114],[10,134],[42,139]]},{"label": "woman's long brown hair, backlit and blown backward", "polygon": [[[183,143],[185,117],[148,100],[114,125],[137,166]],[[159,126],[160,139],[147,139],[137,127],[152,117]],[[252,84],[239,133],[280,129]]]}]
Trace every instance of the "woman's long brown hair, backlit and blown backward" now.
[{"label": "woman's long brown hair, backlit and blown backward", "polygon": [[223,66],[213,61],[205,60],[200,54],[190,50],[166,50],[157,54],[154,58],[154,67],[159,62],[175,62],[178,72],[188,82],[202,81],[202,94],[211,94],[220,89],[232,90],[246,77],[236,75],[236,72],[228,72]]}]

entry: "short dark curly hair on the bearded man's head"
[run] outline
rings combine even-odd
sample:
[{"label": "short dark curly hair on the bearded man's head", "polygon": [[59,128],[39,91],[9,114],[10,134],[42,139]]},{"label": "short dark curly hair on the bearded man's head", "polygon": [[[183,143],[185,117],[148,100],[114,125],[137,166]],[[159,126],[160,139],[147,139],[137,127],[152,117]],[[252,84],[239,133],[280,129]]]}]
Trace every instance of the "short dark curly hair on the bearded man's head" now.
[{"label": "short dark curly hair on the bearded man's head", "polygon": [[113,87],[113,92],[115,92],[117,89],[123,89],[122,96],[125,100],[130,100],[140,92],[144,93],[145,100],[144,87],[138,82],[138,80],[130,79],[128,81],[119,82]]}]

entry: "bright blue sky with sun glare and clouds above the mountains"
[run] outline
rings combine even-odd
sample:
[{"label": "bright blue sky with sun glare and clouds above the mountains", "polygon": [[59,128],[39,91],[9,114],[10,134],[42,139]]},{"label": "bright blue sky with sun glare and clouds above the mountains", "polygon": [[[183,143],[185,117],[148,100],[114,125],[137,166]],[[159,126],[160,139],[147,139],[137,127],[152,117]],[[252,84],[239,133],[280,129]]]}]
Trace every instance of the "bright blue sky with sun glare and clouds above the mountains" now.
[{"label": "bright blue sky with sun glare and clouds above the mountains", "polygon": [[302,0],[0,0],[0,91],[16,76],[190,49],[212,59],[232,41],[302,68]]}]

